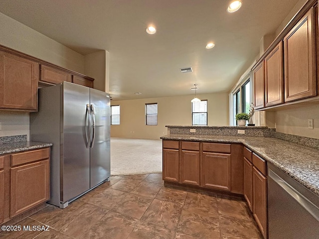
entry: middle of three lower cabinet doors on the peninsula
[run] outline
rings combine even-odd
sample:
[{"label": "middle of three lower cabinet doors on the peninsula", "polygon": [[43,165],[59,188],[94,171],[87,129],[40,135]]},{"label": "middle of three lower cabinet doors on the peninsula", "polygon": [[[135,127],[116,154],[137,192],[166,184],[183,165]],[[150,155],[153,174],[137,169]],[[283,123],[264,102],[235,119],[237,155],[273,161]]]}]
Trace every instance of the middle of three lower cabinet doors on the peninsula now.
[{"label": "middle of three lower cabinet doors on the peninsula", "polygon": [[199,186],[199,152],[181,151],[181,183]]}]

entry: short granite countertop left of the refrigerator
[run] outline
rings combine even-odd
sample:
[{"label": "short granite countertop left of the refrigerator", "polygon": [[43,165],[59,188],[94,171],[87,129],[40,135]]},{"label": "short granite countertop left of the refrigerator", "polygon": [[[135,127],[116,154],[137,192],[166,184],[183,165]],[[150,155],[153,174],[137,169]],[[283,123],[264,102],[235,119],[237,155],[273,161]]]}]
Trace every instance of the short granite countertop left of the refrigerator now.
[{"label": "short granite countertop left of the refrigerator", "polygon": [[34,142],[34,141],[22,141],[12,143],[0,143],[0,155],[6,153],[20,152],[30,149],[50,147],[52,143]]}]

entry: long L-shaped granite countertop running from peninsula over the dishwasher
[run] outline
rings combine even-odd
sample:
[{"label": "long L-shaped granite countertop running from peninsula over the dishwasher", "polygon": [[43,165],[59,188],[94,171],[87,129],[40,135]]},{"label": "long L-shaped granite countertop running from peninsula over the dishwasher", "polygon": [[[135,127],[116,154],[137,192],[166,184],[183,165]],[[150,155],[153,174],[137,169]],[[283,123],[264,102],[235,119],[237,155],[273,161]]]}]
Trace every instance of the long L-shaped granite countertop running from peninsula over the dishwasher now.
[{"label": "long L-shaped granite countertop running from peninsula over the dishwasher", "polygon": [[243,143],[319,196],[319,149],[272,137],[169,134],[168,140]]}]

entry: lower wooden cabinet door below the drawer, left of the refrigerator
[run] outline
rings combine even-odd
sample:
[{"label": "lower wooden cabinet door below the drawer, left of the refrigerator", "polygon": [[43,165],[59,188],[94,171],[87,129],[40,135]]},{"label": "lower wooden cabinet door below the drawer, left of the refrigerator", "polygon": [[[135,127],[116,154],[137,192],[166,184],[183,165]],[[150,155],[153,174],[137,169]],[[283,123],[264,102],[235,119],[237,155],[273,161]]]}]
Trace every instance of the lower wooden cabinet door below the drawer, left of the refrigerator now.
[{"label": "lower wooden cabinet door below the drawer, left of the refrigerator", "polygon": [[48,201],[49,195],[49,160],[11,168],[11,218]]}]

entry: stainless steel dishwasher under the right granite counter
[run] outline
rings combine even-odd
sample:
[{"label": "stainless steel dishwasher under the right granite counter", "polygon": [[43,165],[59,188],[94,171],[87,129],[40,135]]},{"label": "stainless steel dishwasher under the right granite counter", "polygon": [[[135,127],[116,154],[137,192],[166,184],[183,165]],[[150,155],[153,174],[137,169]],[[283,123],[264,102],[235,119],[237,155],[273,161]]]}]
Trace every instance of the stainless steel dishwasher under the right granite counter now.
[{"label": "stainless steel dishwasher under the right granite counter", "polygon": [[268,163],[269,239],[319,239],[319,197]]}]

